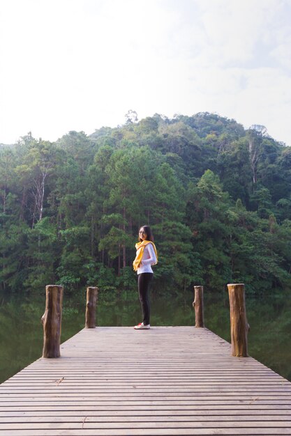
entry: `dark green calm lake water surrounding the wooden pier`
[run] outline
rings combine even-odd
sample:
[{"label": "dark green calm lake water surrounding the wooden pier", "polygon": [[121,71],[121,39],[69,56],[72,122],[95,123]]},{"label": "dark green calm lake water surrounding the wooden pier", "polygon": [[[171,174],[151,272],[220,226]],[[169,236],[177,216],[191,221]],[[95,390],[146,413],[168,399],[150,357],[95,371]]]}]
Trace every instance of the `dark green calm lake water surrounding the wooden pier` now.
[{"label": "dark green calm lake water surrounding the wooden pier", "polygon": [[[274,293],[275,295],[275,293]],[[194,325],[193,292],[151,293],[151,325]],[[86,290],[64,295],[61,342],[84,327]],[[246,296],[249,354],[291,381],[291,294]],[[38,359],[43,349],[45,290],[38,295],[0,296],[0,382]],[[230,341],[227,293],[204,293],[205,325]],[[98,325],[132,326],[141,321],[136,293],[101,292]],[[199,350],[197,350],[199,352]]]}]

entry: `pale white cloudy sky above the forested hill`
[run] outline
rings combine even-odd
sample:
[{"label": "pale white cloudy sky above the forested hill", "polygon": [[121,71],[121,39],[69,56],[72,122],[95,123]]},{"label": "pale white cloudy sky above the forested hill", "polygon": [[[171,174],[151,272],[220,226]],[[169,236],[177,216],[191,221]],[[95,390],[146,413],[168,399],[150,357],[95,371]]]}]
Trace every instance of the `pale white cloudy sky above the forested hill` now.
[{"label": "pale white cloudy sky above the forested hill", "polygon": [[0,0],[0,143],[213,112],[291,146],[291,0]]}]

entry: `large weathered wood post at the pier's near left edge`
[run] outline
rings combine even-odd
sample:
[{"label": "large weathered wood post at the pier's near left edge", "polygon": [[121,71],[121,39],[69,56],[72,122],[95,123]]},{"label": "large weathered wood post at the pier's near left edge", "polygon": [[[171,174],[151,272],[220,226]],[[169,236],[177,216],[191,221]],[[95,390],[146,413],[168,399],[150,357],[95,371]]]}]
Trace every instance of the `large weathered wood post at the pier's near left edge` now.
[{"label": "large weathered wood post at the pier's near left edge", "polygon": [[63,286],[45,286],[45,313],[43,322],[43,357],[60,357],[61,311],[63,306]]}]

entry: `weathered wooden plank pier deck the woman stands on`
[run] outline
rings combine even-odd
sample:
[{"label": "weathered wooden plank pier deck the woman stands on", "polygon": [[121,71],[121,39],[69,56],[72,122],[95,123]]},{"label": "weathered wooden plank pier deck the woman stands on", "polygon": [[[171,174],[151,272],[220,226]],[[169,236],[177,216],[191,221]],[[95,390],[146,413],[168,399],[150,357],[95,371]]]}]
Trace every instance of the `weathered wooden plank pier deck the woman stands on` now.
[{"label": "weathered wooden plank pier deck the woman stands on", "polygon": [[291,383],[208,329],[83,329],[0,386],[1,436],[291,435]]}]

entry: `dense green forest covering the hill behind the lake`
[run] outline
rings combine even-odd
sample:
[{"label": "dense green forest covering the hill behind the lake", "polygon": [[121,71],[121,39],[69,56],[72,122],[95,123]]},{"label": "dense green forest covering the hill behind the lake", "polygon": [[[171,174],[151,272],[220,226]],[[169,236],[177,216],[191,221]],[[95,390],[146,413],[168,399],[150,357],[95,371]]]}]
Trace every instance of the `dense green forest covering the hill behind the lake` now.
[{"label": "dense green forest covering the hill behind the lake", "polygon": [[154,287],[291,288],[291,147],[217,114],[160,114],[56,142],[0,145],[0,290],[135,287],[140,226]]}]

